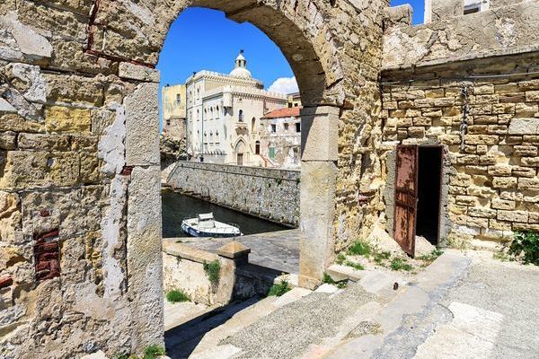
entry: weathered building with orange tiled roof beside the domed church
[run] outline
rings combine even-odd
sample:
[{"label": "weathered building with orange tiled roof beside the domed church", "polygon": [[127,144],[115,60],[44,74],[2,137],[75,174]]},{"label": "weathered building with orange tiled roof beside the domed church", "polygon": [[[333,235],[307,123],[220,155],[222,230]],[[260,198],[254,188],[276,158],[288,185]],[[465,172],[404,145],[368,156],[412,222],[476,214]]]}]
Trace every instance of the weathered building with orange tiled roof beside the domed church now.
[{"label": "weathered building with orange tiled roof beside the domed church", "polygon": [[[291,102],[288,102],[290,106]],[[260,153],[265,167],[299,168],[300,107],[275,109],[261,118]]]}]

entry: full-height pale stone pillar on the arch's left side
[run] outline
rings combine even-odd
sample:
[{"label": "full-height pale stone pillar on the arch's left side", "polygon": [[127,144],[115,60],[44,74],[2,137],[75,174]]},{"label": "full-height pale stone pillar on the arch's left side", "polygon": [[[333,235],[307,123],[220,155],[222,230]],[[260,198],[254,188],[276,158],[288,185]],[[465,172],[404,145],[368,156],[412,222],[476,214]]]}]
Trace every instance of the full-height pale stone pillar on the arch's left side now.
[{"label": "full-height pale stone pillar on the arch's left side", "polygon": [[163,345],[161,167],[157,83],[140,83],[125,101],[128,185],[128,295],[133,352]]}]

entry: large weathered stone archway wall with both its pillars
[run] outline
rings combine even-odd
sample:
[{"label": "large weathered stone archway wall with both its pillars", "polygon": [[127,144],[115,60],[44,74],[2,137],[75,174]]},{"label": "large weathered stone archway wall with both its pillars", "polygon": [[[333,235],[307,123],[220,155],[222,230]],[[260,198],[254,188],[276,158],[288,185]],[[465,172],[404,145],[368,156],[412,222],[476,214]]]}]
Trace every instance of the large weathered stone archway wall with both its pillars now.
[{"label": "large weathered stone archway wall with both its pillars", "polygon": [[3,2],[1,235],[10,250],[0,285],[17,315],[2,347],[13,357],[75,357],[162,342],[154,67],[168,27],[192,5],[252,22],[296,74],[305,105],[300,284],[317,284],[333,248],[376,208],[358,190],[370,171],[361,160],[373,148],[388,4]]}]

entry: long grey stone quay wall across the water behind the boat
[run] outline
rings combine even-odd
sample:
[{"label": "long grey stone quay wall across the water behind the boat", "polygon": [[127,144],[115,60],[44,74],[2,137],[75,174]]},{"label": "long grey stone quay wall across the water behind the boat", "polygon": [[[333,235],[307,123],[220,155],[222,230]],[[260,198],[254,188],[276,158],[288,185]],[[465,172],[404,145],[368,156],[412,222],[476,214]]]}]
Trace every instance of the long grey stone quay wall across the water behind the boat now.
[{"label": "long grey stone quay wall across the water behind the boat", "polygon": [[176,162],[166,184],[273,222],[299,223],[300,171]]}]

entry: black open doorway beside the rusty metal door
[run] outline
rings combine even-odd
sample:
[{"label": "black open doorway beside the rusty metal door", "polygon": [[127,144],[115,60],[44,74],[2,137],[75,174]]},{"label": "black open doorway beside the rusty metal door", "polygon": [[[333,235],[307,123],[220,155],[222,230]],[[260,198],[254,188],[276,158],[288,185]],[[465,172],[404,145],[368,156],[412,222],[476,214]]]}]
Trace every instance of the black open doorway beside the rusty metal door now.
[{"label": "black open doorway beside the rusty metal door", "polygon": [[420,146],[416,235],[435,246],[439,241],[442,160],[441,146]]}]

